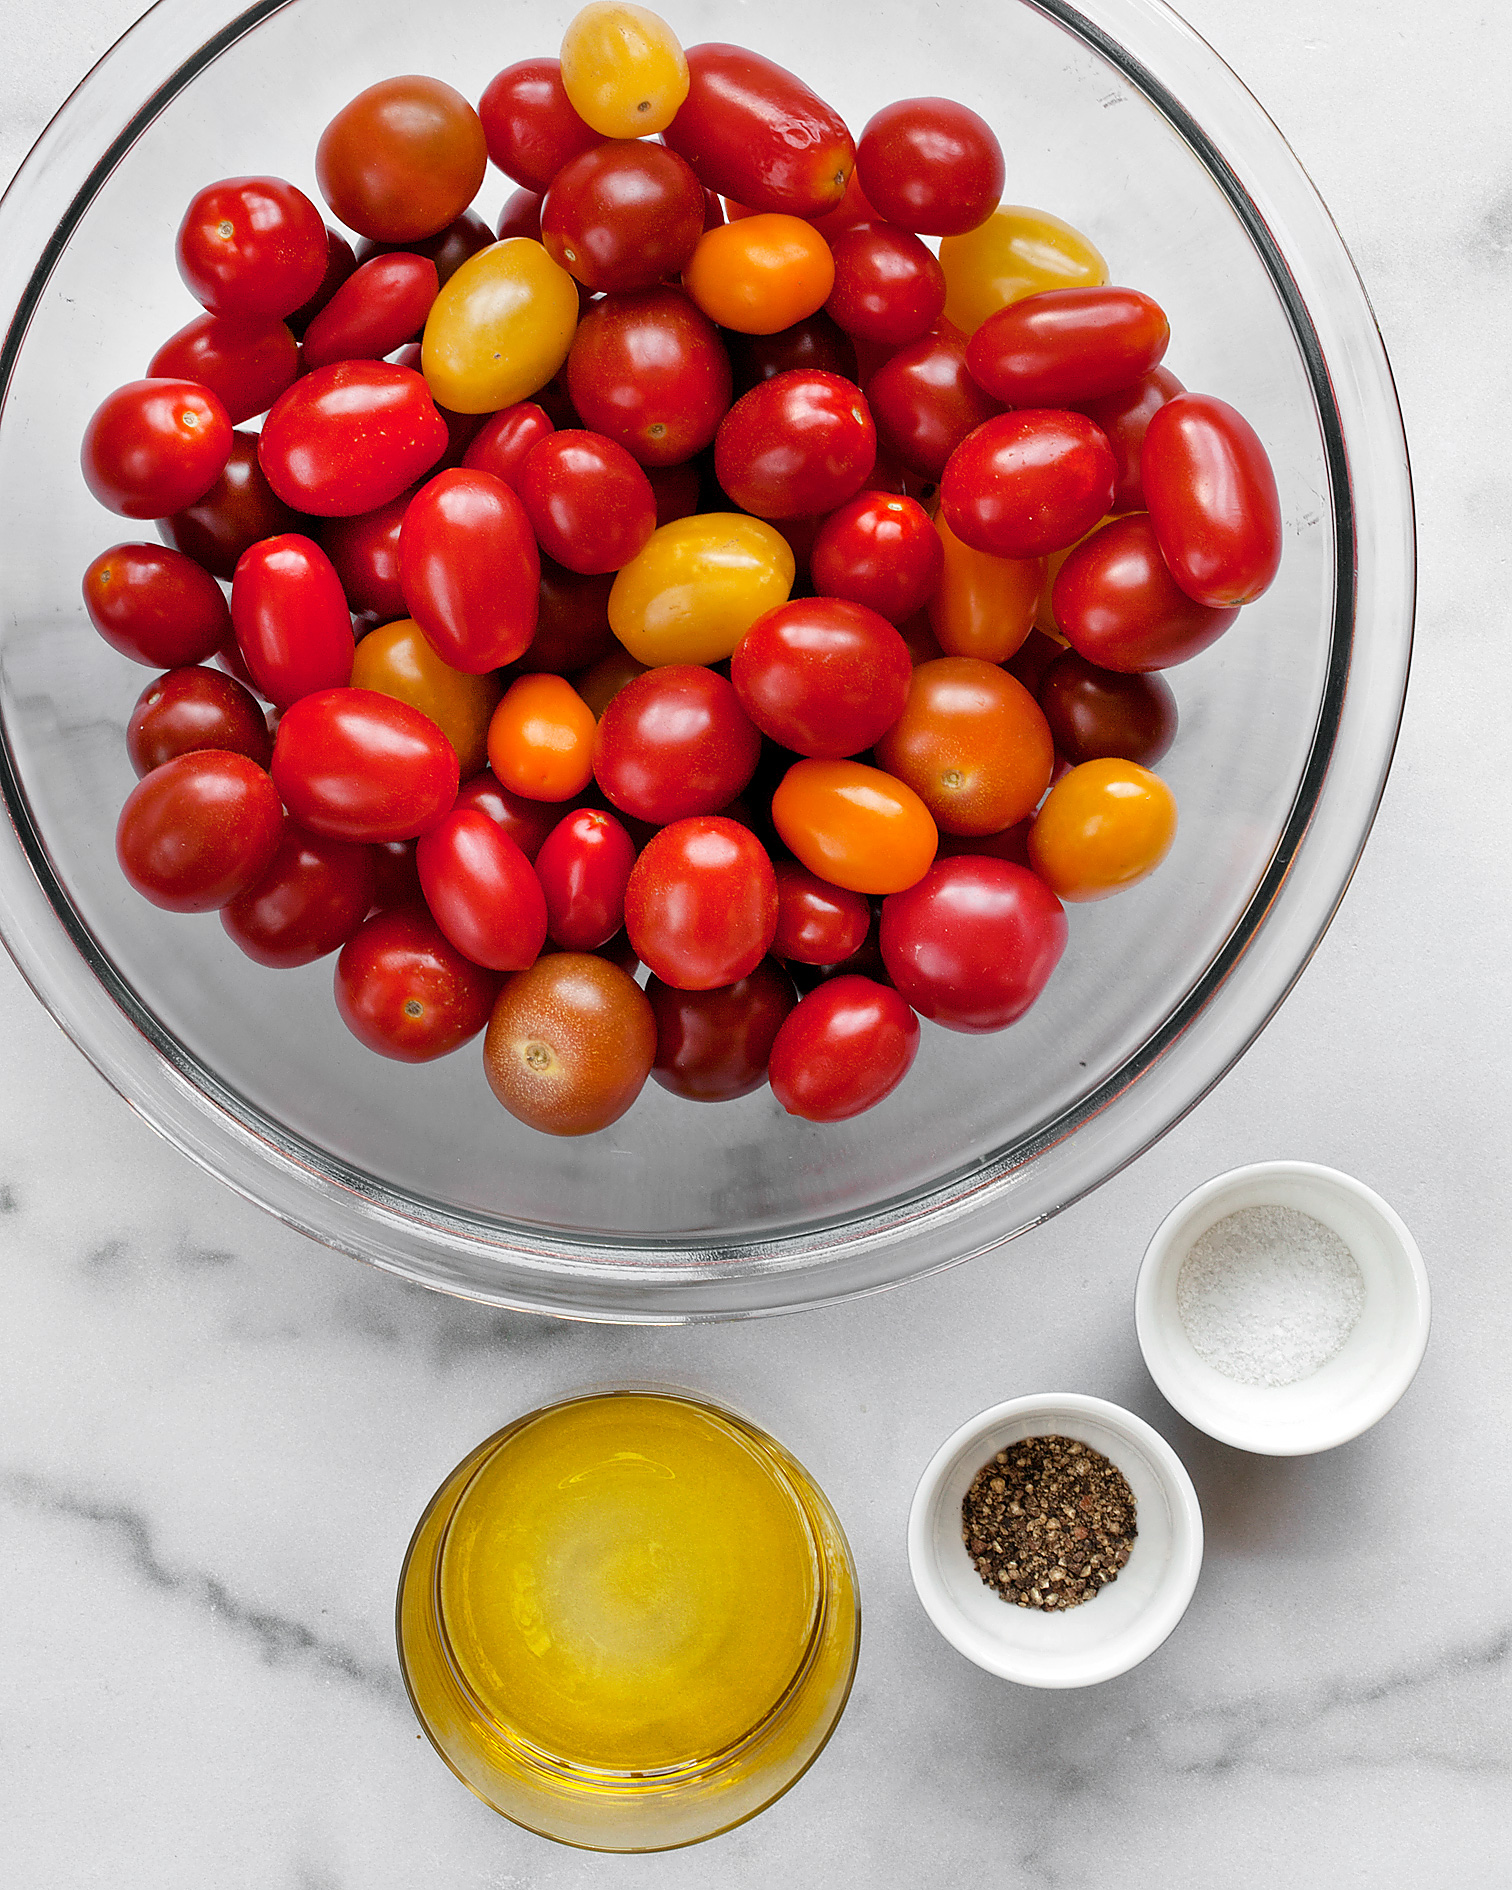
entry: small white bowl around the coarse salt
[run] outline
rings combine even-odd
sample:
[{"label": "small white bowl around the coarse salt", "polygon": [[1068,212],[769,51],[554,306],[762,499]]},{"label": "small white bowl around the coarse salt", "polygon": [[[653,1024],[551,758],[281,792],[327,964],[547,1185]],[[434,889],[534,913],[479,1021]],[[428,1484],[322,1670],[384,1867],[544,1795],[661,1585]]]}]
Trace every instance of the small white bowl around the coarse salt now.
[{"label": "small white bowl around the coarse salt", "polygon": [[[1202,1359],[1176,1302],[1194,1242],[1240,1208],[1297,1208],[1331,1227],[1365,1276],[1359,1321],[1334,1353],[1291,1385],[1246,1385]],[[1134,1289],[1134,1329],[1149,1376],[1208,1436],[1266,1457],[1346,1444],[1412,1383],[1429,1342],[1429,1280],[1418,1244],[1372,1189],[1315,1162],[1255,1162],[1194,1189],[1157,1227]]]}]

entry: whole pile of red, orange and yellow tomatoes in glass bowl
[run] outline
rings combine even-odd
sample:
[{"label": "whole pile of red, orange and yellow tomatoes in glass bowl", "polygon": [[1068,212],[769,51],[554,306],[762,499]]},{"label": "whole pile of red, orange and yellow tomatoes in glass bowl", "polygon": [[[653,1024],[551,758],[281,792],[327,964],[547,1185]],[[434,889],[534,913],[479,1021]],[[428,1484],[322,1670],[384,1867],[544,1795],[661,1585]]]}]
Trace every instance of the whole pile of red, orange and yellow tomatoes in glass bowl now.
[{"label": "whole pile of red, orange and yellow tomatoes in glass bowl", "polygon": [[1021,1017],[1064,903],[1172,843],[1159,671],[1280,561],[1264,450],[1160,308],[1000,204],[964,106],[854,142],[616,0],[476,110],[370,87],[316,176],[357,248],[284,180],[202,189],[204,312],[85,435],[164,541],[83,586],[164,671],[130,885],[265,966],[338,953],[387,1057],[486,1030],[554,1134],[648,1075],[839,1121],[919,1017]]}]

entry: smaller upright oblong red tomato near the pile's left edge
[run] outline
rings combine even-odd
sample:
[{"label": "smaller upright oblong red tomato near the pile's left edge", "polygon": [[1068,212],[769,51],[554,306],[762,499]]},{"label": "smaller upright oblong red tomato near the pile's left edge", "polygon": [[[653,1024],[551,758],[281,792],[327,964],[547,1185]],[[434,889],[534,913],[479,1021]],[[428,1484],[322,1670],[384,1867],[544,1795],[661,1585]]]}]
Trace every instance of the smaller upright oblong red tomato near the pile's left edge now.
[{"label": "smaller upright oblong red tomato near the pile's left edge", "polygon": [[325,552],[297,531],[242,552],[231,622],[251,680],[278,709],[352,680],[352,616]]}]

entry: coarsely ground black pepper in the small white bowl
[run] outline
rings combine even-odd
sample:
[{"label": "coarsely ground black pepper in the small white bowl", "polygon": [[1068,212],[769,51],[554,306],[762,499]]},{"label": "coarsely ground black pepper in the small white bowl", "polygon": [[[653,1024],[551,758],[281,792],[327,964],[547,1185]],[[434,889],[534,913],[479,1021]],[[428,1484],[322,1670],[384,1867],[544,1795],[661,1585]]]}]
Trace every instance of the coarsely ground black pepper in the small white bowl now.
[{"label": "coarsely ground black pepper in the small white bowl", "polygon": [[960,1504],[977,1574],[1021,1608],[1074,1608],[1128,1561],[1134,1491],[1100,1450],[1026,1436],[985,1463]]}]

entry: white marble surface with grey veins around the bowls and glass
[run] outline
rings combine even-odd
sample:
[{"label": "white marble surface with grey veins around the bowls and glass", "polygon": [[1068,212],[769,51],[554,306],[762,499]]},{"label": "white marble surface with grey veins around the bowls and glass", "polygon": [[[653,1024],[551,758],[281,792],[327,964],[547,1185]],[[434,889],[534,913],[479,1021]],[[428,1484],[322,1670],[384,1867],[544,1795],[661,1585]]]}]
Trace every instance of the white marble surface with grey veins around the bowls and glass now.
[{"label": "white marble surface with grey veins around the bowls and glass", "polygon": [[[1506,1882],[1512,15],[1185,11],[1332,206],[1416,454],[1406,728],[1297,992],[1132,1172],[998,1257],[798,1319],[609,1331],[452,1304],[280,1228],[136,1121],[0,960],[6,1884]],[[8,0],[0,176],[134,13]],[[1164,1210],[1270,1155],[1382,1189],[1436,1295],[1406,1399],[1317,1459],[1193,1433],[1132,1332]],[[820,1765],[754,1824],[660,1860],[561,1850],[474,1803],[418,1737],[391,1646],[399,1557],[442,1472],[533,1400],[616,1374],[764,1418],[832,1493],[868,1610]],[[1077,1695],[962,1661],[903,1557],[939,1438],[1049,1385],[1147,1416],[1208,1520],[1176,1637]]]}]

